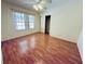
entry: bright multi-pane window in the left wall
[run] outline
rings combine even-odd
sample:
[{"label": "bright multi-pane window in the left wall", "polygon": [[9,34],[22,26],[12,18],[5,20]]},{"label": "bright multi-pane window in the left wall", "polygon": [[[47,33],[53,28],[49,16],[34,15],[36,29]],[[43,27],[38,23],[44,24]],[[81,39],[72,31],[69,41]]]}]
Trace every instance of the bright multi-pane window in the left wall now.
[{"label": "bright multi-pane window in the left wall", "polygon": [[34,28],[34,15],[13,11],[13,22],[17,30]]}]

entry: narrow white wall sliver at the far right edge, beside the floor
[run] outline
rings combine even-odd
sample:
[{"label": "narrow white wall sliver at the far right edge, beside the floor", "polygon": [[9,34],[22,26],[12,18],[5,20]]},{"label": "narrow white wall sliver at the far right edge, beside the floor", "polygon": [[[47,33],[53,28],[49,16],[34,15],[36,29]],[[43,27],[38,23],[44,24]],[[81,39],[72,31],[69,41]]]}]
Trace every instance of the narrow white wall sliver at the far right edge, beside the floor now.
[{"label": "narrow white wall sliver at the far right edge, beside the floor", "polygon": [[82,60],[83,60],[83,31],[81,31],[81,34],[80,34],[80,36],[79,36],[77,48],[79,48],[81,57],[82,57]]}]

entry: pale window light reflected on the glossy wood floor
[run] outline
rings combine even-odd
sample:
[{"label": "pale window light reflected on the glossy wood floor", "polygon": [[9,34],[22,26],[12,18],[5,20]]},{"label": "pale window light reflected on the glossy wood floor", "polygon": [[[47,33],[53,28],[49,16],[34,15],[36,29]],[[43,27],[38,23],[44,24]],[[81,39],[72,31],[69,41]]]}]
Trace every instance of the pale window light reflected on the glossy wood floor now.
[{"label": "pale window light reflected on the glossy wood floor", "polygon": [[32,38],[30,40],[30,42],[28,42],[27,40],[20,41],[18,43],[18,46],[19,46],[19,52],[20,53],[26,53],[30,49],[33,49],[34,48],[34,44],[36,44],[34,38]]}]

